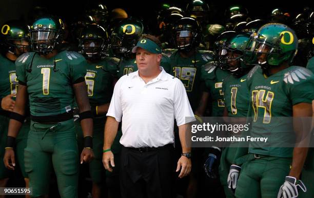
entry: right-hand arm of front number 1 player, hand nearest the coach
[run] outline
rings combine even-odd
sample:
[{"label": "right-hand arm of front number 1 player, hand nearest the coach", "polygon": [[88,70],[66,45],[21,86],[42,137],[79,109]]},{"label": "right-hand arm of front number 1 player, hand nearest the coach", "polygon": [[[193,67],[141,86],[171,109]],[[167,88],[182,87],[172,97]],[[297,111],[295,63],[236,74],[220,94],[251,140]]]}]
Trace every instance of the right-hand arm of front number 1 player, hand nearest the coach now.
[{"label": "right-hand arm of front number 1 player, hand nearest the coach", "polygon": [[92,151],[92,135],[93,135],[93,115],[91,113],[90,104],[87,96],[87,88],[85,80],[73,84],[76,103],[80,109],[81,126],[84,135],[84,149],[81,154],[81,164],[83,161],[90,162],[94,158]]}]

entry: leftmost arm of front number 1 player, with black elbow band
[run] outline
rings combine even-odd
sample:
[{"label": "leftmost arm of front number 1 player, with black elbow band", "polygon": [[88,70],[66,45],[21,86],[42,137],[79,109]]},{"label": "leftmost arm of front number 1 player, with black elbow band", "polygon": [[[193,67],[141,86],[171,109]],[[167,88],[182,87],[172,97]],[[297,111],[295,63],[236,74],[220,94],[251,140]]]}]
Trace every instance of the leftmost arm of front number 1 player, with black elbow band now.
[{"label": "leftmost arm of front number 1 player, with black elbow band", "polygon": [[10,116],[8,137],[6,144],[6,151],[4,156],[4,164],[7,168],[14,170],[15,158],[14,158],[14,144],[15,138],[24,123],[25,117],[25,104],[27,102],[27,87],[26,85],[19,84],[18,92],[16,95],[15,106]]}]

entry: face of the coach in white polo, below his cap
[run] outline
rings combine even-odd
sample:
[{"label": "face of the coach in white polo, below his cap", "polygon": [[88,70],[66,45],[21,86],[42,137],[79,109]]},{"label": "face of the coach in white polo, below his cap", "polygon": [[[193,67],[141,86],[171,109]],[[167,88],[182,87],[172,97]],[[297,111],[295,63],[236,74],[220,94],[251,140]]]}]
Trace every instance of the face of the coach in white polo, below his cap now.
[{"label": "face of the coach in white polo, below his cap", "polygon": [[153,54],[142,48],[136,50],[136,64],[140,71],[149,71],[159,67],[161,58],[161,54]]}]

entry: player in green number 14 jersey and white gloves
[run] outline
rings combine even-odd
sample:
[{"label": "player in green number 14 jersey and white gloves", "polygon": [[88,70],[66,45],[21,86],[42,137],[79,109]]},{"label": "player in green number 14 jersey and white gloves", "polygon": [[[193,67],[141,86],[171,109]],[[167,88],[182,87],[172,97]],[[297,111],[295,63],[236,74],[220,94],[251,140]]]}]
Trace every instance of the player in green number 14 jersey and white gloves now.
[{"label": "player in green number 14 jersey and white gloves", "polygon": [[[303,67],[290,66],[297,48],[295,32],[278,23],[262,26],[247,45],[259,63],[246,78],[250,136],[269,137],[272,145],[249,142],[244,157],[237,150],[228,175],[236,197],[297,197],[299,189],[306,191],[300,173],[308,148],[296,141],[304,135],[304,127],[283,118],[312,116],[314,76]],[[288,142],[295,142],[295,147],[277,146]]]}]

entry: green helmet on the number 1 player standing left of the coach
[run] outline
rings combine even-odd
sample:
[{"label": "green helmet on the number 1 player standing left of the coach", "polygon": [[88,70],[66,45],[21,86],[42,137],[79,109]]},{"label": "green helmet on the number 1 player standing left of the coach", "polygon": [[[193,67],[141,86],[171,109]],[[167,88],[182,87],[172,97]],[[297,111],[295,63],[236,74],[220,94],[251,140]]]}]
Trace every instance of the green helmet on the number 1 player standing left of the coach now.
[{"label": "green helmet on the number 1 player standing left of the coach", "polygon": [[64,24],[61,19],[41,17],[30,28],[33,51],[48,54],[63,40]]}]

